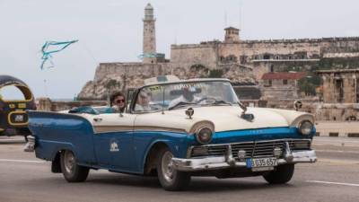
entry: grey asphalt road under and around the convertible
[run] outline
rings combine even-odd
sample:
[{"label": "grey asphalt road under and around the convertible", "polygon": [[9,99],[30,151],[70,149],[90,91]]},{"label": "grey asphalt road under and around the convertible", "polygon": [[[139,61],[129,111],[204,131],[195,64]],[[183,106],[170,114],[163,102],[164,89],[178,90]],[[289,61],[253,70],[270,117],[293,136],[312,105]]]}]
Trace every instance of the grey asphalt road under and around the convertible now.
[{"label": "grey asphalt road under and around the convertible", "polygon": [[359,138],[316,137],[319,162],[297,164],[288,184],[260,177],[192,178],[188,190],[168,192],[152,177],[91,171],[83,183],[67,183],[50,164],[22,152],[19,138],[0,137],[0,202],[99,201],[359,201]]}]

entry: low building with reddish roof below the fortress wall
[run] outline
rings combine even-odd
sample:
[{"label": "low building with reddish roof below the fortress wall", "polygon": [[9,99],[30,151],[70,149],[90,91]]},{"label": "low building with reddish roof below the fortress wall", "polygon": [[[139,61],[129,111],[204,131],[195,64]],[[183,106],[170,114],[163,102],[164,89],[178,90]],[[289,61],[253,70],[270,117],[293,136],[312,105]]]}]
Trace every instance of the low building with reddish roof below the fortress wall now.
[{"label": "low building with reddish roof below the fortress wall", "polygon": [[298,98],[298,81],[304,78],[304,72],[266,73],[261,78],[261,91],[264,99]]}]

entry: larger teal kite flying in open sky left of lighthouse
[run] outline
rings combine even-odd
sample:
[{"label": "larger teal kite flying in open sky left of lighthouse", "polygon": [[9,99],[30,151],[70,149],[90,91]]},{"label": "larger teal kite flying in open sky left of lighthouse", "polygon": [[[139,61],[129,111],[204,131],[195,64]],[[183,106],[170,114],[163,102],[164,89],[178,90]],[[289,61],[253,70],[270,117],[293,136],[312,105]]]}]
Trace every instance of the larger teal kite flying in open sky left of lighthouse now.
[{"label": "larger teal kite flying in open sky left of lighthouse", "polygon": [[61,41],[61,42],[46,41],[45,44],[41,48],[41,52],[42,52],[42,57],[41,57],[42,63],[40,66],[41,70],[44,69],[44,65],[47,61],[49,61],[51,63],[51,66],[48,66],[48,67],[54,66],[54,64],[51,61],[51,58],[52,58],[51,54],[59,52],[77,41],[78,40]]}]

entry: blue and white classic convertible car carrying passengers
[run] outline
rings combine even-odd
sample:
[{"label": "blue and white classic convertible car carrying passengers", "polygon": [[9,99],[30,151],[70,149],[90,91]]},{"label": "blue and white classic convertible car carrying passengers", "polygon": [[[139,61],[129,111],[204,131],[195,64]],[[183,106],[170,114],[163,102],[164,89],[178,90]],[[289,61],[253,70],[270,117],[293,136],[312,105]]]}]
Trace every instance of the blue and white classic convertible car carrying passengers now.
[{"label": "blue and white classic convertible car carrying passengers", "polygon": [[166,190],[187,188],[191,176],[286,183],[295,163],[317,160],[311,114],[247,108],[227,79],[147,84],[127,108],[30,111],[36,156],[69,182],[106,169],[157,175]]}]

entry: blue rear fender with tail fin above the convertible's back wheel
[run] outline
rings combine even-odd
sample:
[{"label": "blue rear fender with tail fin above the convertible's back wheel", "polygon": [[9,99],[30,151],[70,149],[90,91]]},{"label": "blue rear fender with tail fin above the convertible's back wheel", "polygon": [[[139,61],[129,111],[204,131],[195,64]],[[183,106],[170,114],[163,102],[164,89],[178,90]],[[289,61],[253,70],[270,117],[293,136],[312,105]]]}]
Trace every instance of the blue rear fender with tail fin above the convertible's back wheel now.
[{"label": "blue rear fender with tail fin above the convertible's back wheel", "polygon": [[29,128],[36,141],[36,156],[53,161],[59,151],[70,150],[79,164],[97,162],[93,148],[93,128],[80,115],[29,111]]}]

